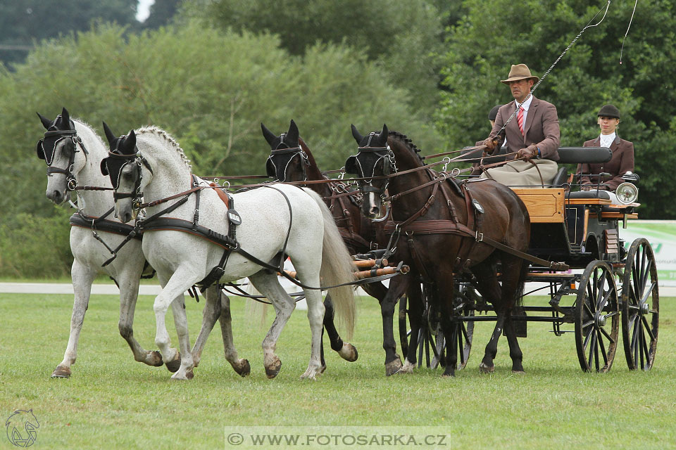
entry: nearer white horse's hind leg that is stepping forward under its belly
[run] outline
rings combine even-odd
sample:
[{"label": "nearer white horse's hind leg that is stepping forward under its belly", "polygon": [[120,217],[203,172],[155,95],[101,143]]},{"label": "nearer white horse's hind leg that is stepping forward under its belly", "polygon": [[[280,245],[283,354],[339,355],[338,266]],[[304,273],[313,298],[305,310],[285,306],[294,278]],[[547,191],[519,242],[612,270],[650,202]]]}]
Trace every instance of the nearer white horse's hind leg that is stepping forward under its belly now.
[{"label": "nearer white horse's hind leg that is stepping forward under its belly", "polygon": [[289,321],[292,312],[296,308],[296,303],[289,294],[282,288],[277,276],[268,270],[261,270],[257,274],[249,276],[249,281],[253,286],[275,307],[275,320],[270,326],[268,334],[263,339],[263,365],[265,366],[265,375],[268,378],[275,378],[282,368],[282,361],[275,354],[277,339],[280,338],[282,328]]}]

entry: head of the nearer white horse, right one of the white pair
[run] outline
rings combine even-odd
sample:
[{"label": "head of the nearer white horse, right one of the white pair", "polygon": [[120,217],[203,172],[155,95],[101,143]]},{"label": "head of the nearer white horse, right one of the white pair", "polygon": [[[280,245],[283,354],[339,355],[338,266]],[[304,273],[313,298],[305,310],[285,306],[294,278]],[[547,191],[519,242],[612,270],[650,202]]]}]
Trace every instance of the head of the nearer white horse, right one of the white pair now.
[{"label": "head of the nearer white horse, right one of the white pair", "polygon": [[111,177],[115,217],[127,223],[136,217],[142,201],[142,165],[146,165],[148,169],[150,167],[139,154],[134,130],[122,136],[115,136],[104,122],[104,131],[110,148],[108,157],[101,160],[101,173]]}]

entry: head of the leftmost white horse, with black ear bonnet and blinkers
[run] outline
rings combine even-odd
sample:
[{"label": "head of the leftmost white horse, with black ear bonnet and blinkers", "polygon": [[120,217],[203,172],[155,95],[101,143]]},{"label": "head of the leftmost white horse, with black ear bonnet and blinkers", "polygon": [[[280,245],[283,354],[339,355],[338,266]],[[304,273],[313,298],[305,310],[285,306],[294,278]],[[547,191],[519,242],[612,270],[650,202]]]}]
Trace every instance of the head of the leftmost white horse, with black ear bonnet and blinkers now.
[{"label": "head of the leftmost white horse, with black ear bonnet and blinkers", "polygon": [[75,187],[75,174],[84,167],[86,153],[82,152],[82,158],[77,158],[80,153],[77,144],[82,143],[82,140],[77,136],[75,123],[70,120],[68,110],[63,108],[54,120],[40,113],[37,116],[46,129],[36,147],[37,157],[47,163],[45,195],[58,205],[68,198],[68,192]]}]

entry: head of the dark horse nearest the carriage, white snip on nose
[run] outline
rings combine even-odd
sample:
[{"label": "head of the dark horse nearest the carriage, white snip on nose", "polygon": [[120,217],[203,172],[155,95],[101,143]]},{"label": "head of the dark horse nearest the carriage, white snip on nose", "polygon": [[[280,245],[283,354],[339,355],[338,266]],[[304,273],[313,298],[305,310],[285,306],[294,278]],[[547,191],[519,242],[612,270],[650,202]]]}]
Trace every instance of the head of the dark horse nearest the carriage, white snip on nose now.
[{"label": "head of the dark horse nearest the carriage, white snip on nose", "polygon": [[381,131],[373,131],[366,136],[362,136],[352,125],[352,136],[357,141],[358,151],[347,158],[345,172],[360,179],[359,190],[364,197],[361,209],[371,219],[380,214],[388,184],[387,176],[395,171],[393,155],[387,144],[388,135],[385,124]]}]

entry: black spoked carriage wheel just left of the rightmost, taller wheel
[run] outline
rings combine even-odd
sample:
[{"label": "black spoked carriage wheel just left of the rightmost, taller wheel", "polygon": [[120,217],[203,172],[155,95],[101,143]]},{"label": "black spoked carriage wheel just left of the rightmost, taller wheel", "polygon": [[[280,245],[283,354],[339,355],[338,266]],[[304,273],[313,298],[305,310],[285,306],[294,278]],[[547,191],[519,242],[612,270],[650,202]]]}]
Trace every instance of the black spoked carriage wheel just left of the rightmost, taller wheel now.
[{"label": "black spoked carriage wheel just left of the rightmost, taller wheel", "polygon": [[592,261],[584,269],[575,301],[575,345],[583,371],[611,370],[619,328],[613,270],[606,262]]}]

